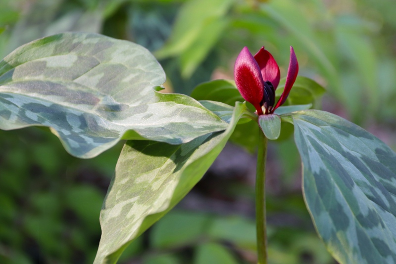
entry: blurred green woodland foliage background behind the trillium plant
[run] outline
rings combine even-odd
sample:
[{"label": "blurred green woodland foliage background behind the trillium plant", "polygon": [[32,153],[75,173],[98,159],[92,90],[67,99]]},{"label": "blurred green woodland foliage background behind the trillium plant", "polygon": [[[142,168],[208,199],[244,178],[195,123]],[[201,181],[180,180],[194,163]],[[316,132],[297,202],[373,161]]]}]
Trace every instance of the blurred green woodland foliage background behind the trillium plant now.
[{"label": "blurred green woodland foliage background behind the trillium plant", "polygon": [[[97,32],[147,47],[166,89],[190,94],[201,82],[232,79],[243,46],[265,45],[284,77],[293,45],[299,74],[327,88],[318,107],[395,149],[395,14],[394,0],[0,0],[0,55],[58,32]],[[255,133],[242,147],[227,145],[119,263],[254,263]],[[0,131],[0,263],[92,263],[122,143],[79,160],[49,132]],[[293,138],[271,142],[268,156],[270,263],[335,264],[305,209]]]}]

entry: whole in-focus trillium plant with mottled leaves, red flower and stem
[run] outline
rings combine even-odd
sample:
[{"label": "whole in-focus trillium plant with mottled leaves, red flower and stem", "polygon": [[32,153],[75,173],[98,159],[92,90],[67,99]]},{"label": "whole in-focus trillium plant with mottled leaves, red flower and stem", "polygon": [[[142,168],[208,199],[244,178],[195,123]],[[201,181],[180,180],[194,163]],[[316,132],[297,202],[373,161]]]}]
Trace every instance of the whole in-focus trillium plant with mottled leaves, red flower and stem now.
[{"label": "whole in-focus trillium plant with mottled leaves, red flower and stem", "polygon": [[142,46],[98,34],[46,37],[0,62],[0,128],[48,128],[85,159],[126,140],[100,213],[96,264],[116,263],[193,188],[228,140],[248,147],[244,138],[253,134],[257,263],[266,264],[267,140],[292,124],[305,204],[328,251],[340,264],[396,263],[395,152],[347,120],[310,109],[324,89],[297,77],[290,52],[281,79],[270,52],[262,47],[253,56],[245,47],[235,82],[207,82],[190,97],[160,92],[165,74]]}]

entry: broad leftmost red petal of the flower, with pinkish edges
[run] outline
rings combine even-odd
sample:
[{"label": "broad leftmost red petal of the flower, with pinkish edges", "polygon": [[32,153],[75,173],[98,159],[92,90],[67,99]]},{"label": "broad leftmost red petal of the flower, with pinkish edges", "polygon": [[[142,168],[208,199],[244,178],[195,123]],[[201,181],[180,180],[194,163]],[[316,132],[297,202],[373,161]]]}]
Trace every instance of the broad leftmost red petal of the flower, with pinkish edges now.
[{"label": "broad leftmost red petal of the flower, with pinkish edges", "polygon": [[260,67],[247,47],[242,49],[235,61],[234,78],[242,97],[256,108],[258,115],[262,115],[260,102],[264,94],[264,81]]}]

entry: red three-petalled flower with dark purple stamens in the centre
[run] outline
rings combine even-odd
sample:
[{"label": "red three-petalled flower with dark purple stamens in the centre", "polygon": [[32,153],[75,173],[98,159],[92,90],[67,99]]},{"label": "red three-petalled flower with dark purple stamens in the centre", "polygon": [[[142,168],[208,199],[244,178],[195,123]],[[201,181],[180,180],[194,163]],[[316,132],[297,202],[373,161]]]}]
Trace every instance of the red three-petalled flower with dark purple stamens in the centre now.
[{"label": "red three-petalled flower with dark purple stamens in the centre", "polygon": [[275,104],[275,90],[281,78],[278,63],[264,46],[254,55],[244,47],[234,66],[234,78],[242,97],[257,110],[257,115],[272,114],[285,103],[296,81],[298,62],[293,47],[290,47],[290,63],[286,84]]}]

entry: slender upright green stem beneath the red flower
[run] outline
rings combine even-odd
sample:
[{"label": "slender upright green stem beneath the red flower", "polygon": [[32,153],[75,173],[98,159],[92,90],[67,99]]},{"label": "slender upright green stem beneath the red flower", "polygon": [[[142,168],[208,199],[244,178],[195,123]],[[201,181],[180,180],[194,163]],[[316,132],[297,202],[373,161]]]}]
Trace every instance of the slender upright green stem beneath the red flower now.
[{"label": "slender upright green stem beneath the red flower", "polygon": [[255,193],[257,264],[267,264],[267,224],[265,216],[265,167],[267,161],[267,141],[267,137],[259,128]]}]

